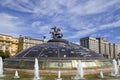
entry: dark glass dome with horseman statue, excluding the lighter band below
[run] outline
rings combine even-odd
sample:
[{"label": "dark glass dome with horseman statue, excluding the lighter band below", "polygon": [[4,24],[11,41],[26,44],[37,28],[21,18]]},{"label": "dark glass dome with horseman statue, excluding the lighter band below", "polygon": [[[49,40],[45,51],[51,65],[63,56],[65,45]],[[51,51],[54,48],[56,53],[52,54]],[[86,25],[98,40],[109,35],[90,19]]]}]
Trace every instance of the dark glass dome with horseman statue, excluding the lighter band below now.
[{"label": "dark glass dome with horseman statue, excluding the lighter band below", "polygon": [[52,39],[47,43],[23,50],[14,58],[102,58],[101,55],[80,45],[62,39],[59,28],[52,28]]}]

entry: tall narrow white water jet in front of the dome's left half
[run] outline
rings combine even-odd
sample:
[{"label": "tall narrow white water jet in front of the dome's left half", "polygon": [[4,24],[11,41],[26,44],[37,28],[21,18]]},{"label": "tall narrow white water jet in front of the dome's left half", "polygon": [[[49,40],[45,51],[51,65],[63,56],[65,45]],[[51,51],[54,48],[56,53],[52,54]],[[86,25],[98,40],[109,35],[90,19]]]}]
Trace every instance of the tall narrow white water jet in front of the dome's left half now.
[{"label": "tall narrow white water jet in front of the dome's left half", "polygon": [[33,80],[41,80],[41,78],[39,77],[39,65],[38,65],[38,59],[37,58],[35,58]]}]

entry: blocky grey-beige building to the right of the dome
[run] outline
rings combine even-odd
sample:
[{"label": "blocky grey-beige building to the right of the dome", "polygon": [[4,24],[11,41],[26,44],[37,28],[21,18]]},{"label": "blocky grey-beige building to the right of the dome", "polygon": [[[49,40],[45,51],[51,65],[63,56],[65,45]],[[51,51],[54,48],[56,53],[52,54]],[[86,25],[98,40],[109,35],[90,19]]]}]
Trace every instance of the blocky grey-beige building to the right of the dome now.
[{"label": "blocky grey-beige building to the right of the dome", "polygon": [[91,49],[106,58],[117,58],[118,46],[108,42],[105,38],[85,37],[80,39],[83,47]]}]

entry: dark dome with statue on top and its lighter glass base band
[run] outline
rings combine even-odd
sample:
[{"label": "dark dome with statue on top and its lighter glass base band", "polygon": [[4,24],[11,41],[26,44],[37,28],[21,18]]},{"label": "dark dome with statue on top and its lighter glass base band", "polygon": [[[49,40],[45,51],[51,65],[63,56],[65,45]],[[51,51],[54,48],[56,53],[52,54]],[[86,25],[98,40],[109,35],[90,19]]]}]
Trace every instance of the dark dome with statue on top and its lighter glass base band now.
[{"label": "dark dome with statue on top and its lighter glass base band", "polygon": [[62,39],[60,29],[52,28],[52,39],[47,43],[39,44],[17,53],[14,57],[5,60],[5,67],[28,68],[34,66],[34,59],[38,58],[42,69],[74,69],[77,61],[82,60],[85,67],[101,67],[106,61],[99,53],[84,48],[75,43]]}]

